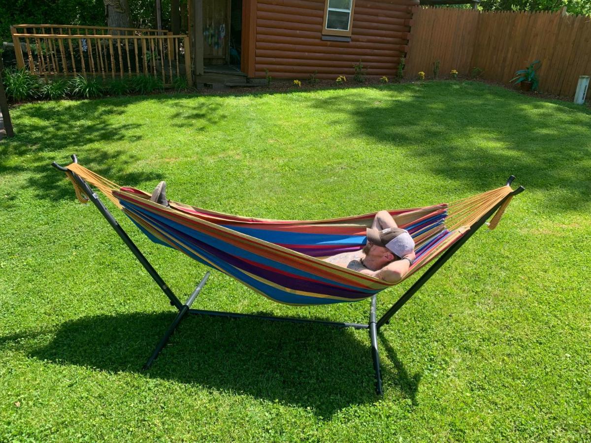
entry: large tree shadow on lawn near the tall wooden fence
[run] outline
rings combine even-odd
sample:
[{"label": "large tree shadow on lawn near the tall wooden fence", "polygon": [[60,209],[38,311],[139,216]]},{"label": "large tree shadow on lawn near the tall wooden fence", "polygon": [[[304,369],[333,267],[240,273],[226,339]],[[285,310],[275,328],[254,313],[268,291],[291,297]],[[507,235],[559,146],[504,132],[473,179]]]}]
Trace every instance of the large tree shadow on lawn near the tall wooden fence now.
[{"label": "large tree shadow on lawn near the tall wooden fence", "polygon": [[566,190],[567,198],[554,196],[554,206],[588,203],[588,110],[473,82],[405,84],[381,92],[378,101],[352,90],[348,99],[322,97],[313,106],[351,122],[352,135],[394,144],[426,170],[476,190],[514,174],[530,189]]}]

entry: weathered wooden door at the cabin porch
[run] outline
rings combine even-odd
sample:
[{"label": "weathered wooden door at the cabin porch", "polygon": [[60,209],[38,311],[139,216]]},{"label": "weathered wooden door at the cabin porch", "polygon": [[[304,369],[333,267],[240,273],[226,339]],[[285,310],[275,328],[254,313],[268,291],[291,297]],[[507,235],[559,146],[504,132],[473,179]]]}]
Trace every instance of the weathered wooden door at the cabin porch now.
[{"label": "weathered wooden door at the cabin porch", "polygon": [[231,0],[203,0],[203,64],[229,61]]}]

